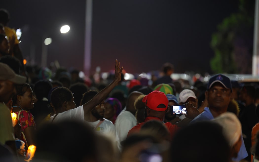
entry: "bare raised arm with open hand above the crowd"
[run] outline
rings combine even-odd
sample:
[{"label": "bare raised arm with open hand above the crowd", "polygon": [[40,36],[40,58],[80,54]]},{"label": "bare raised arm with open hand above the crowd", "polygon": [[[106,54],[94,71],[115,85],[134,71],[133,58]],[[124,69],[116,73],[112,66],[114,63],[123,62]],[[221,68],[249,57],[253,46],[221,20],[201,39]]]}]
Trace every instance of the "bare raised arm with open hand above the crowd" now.
[{"label": "bare raised arm with open hand above the crowd", "polygon": [[114,80],[103,90],[101,90],[99,93],[97,93],[90,101],[83,104],[84,109],[84,116],[90,112],[93,108],[95,108],[100,102],[102,102],[105,97],[109,95],[109,93],[112,91],[112,89],[120,82],[121,80],[121,72],[123,70],[123,67],[120,68],[120,62],[118,60],[115,61],[115,78]]}]

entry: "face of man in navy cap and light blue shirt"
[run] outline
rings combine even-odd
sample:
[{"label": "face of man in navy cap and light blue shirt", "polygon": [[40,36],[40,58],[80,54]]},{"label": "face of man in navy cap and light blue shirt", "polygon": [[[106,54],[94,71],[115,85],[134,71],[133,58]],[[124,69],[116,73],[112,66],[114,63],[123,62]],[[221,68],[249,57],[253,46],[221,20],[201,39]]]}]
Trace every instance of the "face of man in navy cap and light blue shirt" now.
[{"label": "face of man in navy cap and light blue shirt", "polygon": [[233,99],[231,90],[225,88],[221,83],[216,82],[205,92],[210,108],[226,109]]}]

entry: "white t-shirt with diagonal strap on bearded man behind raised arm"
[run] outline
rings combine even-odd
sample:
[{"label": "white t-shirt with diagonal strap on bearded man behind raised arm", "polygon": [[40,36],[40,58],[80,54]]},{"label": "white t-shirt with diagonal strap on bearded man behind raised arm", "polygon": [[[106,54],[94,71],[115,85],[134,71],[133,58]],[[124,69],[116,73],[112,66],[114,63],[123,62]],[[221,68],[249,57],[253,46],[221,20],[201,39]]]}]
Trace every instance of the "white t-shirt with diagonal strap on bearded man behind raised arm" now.
[{"label": "white t-shirt with diagonal strap on bearded man behind raised arm", "polygon": [[113,123],[108,119],[105,119],[105,118],[103,119],[104,119],[103,122],[97,128],[96,126],[99,124],[100,120],[97,120],[95,122],[88,122],[88,121],[85,121],[85,122],[88,125],[90,125],[92,129],[95,130],[96,133],[112,138],[114,141],[118,141],[119,138]]}]

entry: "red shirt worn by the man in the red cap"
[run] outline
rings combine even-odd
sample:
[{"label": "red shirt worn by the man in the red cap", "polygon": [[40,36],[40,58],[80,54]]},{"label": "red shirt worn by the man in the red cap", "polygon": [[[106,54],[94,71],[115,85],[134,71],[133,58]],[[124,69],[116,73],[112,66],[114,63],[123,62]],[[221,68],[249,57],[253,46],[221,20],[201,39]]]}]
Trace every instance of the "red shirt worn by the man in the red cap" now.
[{"label": "red shirt worn by the man in the red cap", "polygon": [[[162,120],[159,117],[148,116],[148,117],[145,118],[144,122],[139,123],[138,125],[131,128],[131,130],[129,130],[129,132],[128,132],[127,137],[134,132],[138,132],[140,130],[141,126],[149,120],[159,120],[159,121],[162,122]],[[167,129],[169,130],[171,137],[173,137],[173,135],[179,129],[179,127],[177,125],[172,125],[170,122],[167,122],[167,123],[164,123],[164,124],[166,125]]]}]

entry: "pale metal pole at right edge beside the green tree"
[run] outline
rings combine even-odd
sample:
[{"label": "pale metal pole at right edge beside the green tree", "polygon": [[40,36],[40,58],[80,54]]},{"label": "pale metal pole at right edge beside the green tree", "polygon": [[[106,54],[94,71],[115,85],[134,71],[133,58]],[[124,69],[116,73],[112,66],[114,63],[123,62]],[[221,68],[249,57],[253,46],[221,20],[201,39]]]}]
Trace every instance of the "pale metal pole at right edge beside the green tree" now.
[{"label": "pale metal pole at right edge beside the green tree", "polygon": [[259,75],[259,0],[255,0],[255,21],[254,21],[254,45],[252,75]]}]

